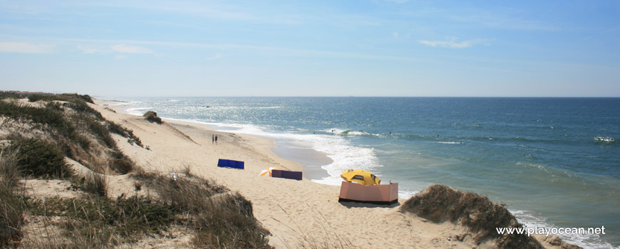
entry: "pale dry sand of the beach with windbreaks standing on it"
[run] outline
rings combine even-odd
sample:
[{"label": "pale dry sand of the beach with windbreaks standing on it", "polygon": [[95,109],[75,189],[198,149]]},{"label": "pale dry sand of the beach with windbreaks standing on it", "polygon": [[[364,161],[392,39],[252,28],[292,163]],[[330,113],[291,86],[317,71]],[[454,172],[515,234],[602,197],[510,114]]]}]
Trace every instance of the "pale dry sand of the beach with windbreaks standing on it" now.
[{"label": "pale dry sand of the beach with windbreaks standing on it", "polygon": [[[348,240],[355,248],[494,248],[459,241],[466,228],[453,223],[433,223],[398,212],[405,200],[392,206],[339,203],[339,186],[259,176],[269,166],[300,171],[302,165],[277,157],[274,141],[247,134],[217,132],[202,124],[165,120],[148,122],[124,114],[121,106],[97,101],[93,107],[108,120],[133,129],[145,147],[129,144],[115,135],[119,147],[146,171],[172,175],[189,167],[193,174],[212,179],[252,201],[254,216],[272,233],[275,248],[336,245]],[[217,144],[212,143],[217,135]],[[217,167],[218,159],[245,162],[245,169]],[[172,177],[172,176],[171,176]],[[390,179],[383,179],[385,182]],[[110,197],[132,194],[126,176],[110,176]],[[540,239],[539,239],[540,240]],[[543,245],[553,248],[547,243]]]}]

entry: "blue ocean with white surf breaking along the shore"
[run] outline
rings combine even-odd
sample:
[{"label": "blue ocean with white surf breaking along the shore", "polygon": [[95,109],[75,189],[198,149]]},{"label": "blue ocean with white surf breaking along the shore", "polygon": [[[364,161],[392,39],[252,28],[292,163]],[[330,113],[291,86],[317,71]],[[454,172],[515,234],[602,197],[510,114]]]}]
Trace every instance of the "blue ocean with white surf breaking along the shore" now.
[{"label": "blue ocean with white surf breaking along the shore", "polygon": [[620,98],[105,99],[274,139],[274,152],[321,184],[339,184],[345,169],[398,182],[401,198],[445,184],[505,203],[530,227],[604,226],[605,235],[559,236],[620,248]]}]

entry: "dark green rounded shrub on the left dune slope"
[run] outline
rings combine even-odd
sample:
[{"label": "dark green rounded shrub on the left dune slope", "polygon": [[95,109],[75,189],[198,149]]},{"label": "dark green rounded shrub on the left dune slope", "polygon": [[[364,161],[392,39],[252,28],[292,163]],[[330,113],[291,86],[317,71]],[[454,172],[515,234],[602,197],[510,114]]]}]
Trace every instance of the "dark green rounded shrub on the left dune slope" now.
[{"label": "dark green rounded shrub on the left dune slope", "polygon": [[17,152],[17,165],[26,175],[64,178],[73,175],[63,153],[39,139],[17,139],[11,144]]}]

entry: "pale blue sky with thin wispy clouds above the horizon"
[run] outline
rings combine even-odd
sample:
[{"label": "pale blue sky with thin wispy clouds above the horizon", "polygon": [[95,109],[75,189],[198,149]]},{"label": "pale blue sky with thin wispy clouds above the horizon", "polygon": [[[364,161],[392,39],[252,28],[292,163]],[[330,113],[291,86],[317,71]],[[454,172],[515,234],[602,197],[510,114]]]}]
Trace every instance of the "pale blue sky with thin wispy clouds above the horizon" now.
[{"label": "pale blue sky with thin wispy clouds above the horizon", "polygon": [[0,90],[620,97],[620,1],[4,1]]}]

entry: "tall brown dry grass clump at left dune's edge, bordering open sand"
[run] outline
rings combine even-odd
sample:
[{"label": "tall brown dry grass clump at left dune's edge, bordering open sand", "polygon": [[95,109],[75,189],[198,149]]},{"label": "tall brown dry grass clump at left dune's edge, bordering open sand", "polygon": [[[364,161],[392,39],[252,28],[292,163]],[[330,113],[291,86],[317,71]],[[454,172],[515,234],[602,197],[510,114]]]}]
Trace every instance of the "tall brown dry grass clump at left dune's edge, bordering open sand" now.
[{"label": "tall brown dry grass clump at left dune's edge, bordering open sand", "polygon": [[161,174],[143,173],[136,178],[186,214],[185,224],[196,231],[192,243],[197,248],[272,248],[269,231],[254,218],[252,203],[242,195],[191,174],[177,181]]}]

